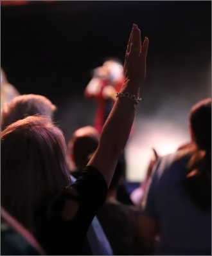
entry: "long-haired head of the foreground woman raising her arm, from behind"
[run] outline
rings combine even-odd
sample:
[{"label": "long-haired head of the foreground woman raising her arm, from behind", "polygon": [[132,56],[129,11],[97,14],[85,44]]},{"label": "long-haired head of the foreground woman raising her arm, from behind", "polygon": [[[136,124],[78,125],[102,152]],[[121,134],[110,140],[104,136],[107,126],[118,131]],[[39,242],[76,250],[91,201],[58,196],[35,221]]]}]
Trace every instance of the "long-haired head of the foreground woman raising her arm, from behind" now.
[{"label": "long-haired head of the foreground woman raising her arm, from behind", "polygon": [[47,118],[28,116],[1,133],[1,204],[26,228],[69,184],[64,136]]}]

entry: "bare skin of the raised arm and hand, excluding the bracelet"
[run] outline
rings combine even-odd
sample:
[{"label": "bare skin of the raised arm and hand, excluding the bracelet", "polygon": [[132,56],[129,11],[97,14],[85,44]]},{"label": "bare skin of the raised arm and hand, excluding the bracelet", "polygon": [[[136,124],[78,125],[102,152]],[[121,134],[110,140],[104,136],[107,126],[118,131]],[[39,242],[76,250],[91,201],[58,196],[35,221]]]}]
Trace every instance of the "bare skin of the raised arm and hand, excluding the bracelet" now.
[{"label": "bare skin of the raised arm and hand, excluding the bracelet", "polygon": [[[140,51],[135,51],[139,49]],[[148,39],[145,38],[141,46],[141,32],[134,24],[128,41],[125,55],[124,74],[125,82],[121,88],[122,93],[139,96],[139,86],[143,84],[146,75],[146,54]],[[118,157],[123,152],[134,122],[134,102],[130,98],[118,98],[112,111],[103,126],[99,147],[88,165],[96,167],[105,178],[109,187],[114,174]]]}]

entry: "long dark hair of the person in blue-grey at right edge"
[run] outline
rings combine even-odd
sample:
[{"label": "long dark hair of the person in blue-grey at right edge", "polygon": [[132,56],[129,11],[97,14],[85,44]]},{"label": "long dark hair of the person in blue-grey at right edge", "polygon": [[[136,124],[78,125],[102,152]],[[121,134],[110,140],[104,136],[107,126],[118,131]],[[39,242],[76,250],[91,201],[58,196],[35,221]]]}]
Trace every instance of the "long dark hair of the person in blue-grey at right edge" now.
[{"label": "long dark hair of the person in blue-grey at right edge", "polygon": [[190,127],[196,149],[186,169],[186,189],[200,209],[211,209],[211,98],[195,104],[190,111]]}]

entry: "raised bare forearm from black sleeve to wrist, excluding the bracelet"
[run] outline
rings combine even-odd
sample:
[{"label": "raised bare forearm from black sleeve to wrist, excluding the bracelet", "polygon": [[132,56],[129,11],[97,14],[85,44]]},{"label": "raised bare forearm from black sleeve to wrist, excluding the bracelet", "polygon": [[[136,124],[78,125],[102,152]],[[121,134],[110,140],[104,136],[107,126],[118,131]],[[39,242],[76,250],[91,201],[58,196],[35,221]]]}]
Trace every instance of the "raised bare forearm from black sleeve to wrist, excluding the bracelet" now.
[{"label": "raised bare forearm from black sleeve to wrist, excluding the bracelet", "polygon": [[[139,83],[126,80],[121,89],[123,93],[139,96]],[[110,185],[118,157],[123,151],[130,134],[136,110],[136,102],[126,97],[116,99],[114,107],[103,126],[100,143],[88,165],[100,170],[107,185]]]}]

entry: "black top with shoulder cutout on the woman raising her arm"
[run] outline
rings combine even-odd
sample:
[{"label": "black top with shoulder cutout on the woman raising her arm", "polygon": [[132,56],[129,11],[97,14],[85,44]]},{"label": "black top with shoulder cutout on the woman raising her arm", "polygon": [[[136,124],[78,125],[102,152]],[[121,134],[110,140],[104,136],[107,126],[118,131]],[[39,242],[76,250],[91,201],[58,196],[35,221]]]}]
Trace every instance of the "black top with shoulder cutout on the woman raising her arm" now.
[{"label": "black top with shoulder cutout on the woman raising her arm", "polygon": [[[48,255],[93,255],[87,230],[107,197],[107,184],[98,170],[85,167],[71,186],[78,197],[62,194],[53,205],[40,209],[36,215],[35,237]],[[60,217],[67,198],[79,203],[78,212],[71,221]]]}]

